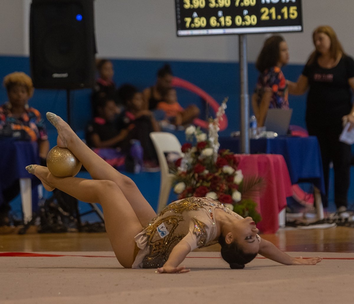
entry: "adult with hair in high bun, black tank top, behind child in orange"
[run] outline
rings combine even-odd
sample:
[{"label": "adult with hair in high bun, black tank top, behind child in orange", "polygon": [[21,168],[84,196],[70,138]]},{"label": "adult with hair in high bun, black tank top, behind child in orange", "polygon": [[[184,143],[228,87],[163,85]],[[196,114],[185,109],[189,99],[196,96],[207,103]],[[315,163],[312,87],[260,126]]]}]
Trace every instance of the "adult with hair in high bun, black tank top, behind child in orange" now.
[{"label": "adult with hair in high bun, black tank top, behind child in orange", "polygon": [[165,113],[156,107],[162,100],[162,95],[166,89],[172,88],[172,70],[169,64],[165,64],[157,72],[156,83],[143,90],[143,109],[153,111],[156,120],[164,120]]}]

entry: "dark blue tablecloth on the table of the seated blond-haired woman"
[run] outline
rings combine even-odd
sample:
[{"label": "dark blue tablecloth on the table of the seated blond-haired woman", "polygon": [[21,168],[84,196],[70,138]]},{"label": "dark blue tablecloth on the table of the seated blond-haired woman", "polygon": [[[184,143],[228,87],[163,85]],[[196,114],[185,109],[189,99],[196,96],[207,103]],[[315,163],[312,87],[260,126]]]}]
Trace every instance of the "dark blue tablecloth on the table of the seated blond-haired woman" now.
[{"label": "dark blue tablecloth on the table of the seated blond-haired woman", "polygon": [[[16,141],[0,138],[0,205],[4,203],[3,190],[12,187],[20,178],[30,178],[32,189],[40,184],[38,178],[25,169],[31,164],[39,164],[37,142]],[[38,192],[33,191],[33,209],[38,209]]]}]

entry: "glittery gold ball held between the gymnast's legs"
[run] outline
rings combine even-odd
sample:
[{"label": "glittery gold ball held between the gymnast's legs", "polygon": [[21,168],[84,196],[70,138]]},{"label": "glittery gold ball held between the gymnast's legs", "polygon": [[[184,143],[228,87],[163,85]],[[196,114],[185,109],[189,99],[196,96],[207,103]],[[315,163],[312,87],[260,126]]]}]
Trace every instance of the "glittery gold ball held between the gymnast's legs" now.
[{"label": "glittery gold ball held between the gymnast's legs", "polygon": [[69,149],[55,146],[48,153],[47,167],[56,177],[69,177],[79,173],[81,162]]}]

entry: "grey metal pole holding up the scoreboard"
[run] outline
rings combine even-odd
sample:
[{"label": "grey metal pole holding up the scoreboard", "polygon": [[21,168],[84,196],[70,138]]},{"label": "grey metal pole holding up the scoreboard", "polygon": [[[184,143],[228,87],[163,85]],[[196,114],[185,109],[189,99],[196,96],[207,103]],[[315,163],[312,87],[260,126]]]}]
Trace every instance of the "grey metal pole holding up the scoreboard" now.
[{"label": "grey metal pole holding up the scoreboard", "polygon": [[239,63],[240,63],[240,142],[241,153],[250,153],[249,133],[249,94],[248,94],[248,67],[247,67],[247,36],[239,35]]}]

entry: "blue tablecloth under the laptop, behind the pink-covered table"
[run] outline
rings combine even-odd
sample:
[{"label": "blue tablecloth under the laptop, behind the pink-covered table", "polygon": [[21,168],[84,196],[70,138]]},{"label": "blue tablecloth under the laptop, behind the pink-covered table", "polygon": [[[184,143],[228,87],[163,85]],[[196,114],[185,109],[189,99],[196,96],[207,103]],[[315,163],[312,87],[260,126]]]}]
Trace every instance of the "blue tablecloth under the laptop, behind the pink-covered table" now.
[{"label": "blue tablecloth under the laptop, behind the pink-covered table", "polygon": [[[219,143],[220,149],[240,153],[239,137],[219,137]],[[321,152],[315,136],[251,139],[250,152],[281,154],[284,156],[292,184],[312,183],[322,194],[325,193]]]}]

